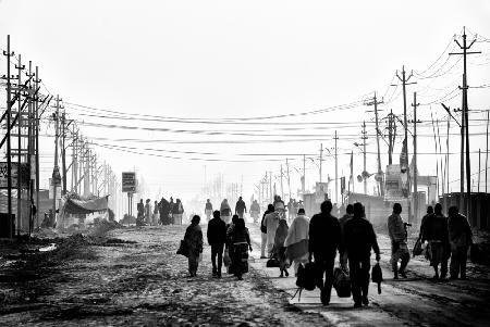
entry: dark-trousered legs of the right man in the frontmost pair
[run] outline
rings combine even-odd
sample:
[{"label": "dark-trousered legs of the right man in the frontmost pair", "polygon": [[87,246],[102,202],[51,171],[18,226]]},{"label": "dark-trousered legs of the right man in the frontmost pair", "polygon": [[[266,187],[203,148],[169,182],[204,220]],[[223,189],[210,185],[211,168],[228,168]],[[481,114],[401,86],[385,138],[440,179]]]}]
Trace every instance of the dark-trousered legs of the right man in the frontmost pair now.
[{"label": "dark-trousered legs of the right man in the frontmost pair", "polygon": [[370,257],[350,257],[348,268],[351,271],[352,297],[354,306],[359,307],[360,303],[369,304],[367,298],[369,290],[369,268]]}]

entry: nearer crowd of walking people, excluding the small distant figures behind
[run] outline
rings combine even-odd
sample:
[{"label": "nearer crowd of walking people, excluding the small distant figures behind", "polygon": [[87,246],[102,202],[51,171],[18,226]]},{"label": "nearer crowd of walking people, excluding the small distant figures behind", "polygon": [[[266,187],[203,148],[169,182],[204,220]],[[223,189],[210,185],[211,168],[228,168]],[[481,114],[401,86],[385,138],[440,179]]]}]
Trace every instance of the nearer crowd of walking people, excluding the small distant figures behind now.
[{"label": "nearer crowd of walking people, excluding the small distant figures behind", "polygon": [[[293,206],[291,206],[293,205]],[[356,202],[345,207],[344,214],[338,218],[332,213],[336,207],[330,201],[320,205],[320,212],[306,216],[304,207],[286,215],[294,201],[287,206],[280,197],[269,204],[260,222],[261,247],[260,257],[268,259],[267,266],[279,267],[280,277],[290,275],[293,265],[294,276],[298,277],[301,266],[313,263],[316,269],[315,284],[320,289],[323,305],[330,303],[331,289],[334,285],[334,271],[341,269],[348,276],[354,307],[368,305],[368,289],[371,268],[371,251],[376,262],[380,262],[381,252],[377,235],[366,217],[365,207]],[[341,207],[343,211],[344,207]],[[250,205],[250,214],[259,211],[255,202]],[[208,200],[205,212],[209,217],[212,204]],[[332,212],[333,211],[333,212]],[[222,277],[223,264],[229,274],[237,279],[248,272],[248,253],[252,251],[250,235],[245,226],[246,205],[242,198],[235,205],[235,214],[224,199],[220,210],[212,211],[208,218],[207,240],[211,247],[212,277]],[[184,242],[189,249],[188,273],[195,276],[203,252],[203,232],[199,216],[194,216],[187,227]],[[289,223],[291,225],[289,225]],[[394,203],[392,214],[387,219],[388,236],[391,241],[390,266],[393,278],[406,278],[406,267],[411,251],[407,244],[407,227],[402,218],[402,205]],[[442,213],[442,205],[428,206],[427,215],[420,224],[420,232],[416,247],[427,241],[427,259],[434,269],[434,279],[443,279],[448,274],[448,262],[451,257],[450,278],[466,278],[466,260],[468,247],[471,244],[471,229],[465,216],[456,206],[449,209],[449,216]],[[417,252],[417,253],[415,253]],[[419,254],[414,249],[414,255]],[[339,268],[335,257],[339,253]],[[439,274],[439,265],[441,272]],[[378,267],[379,268],[379,267]],[[378,275],[377,271],[377,275]]]}]

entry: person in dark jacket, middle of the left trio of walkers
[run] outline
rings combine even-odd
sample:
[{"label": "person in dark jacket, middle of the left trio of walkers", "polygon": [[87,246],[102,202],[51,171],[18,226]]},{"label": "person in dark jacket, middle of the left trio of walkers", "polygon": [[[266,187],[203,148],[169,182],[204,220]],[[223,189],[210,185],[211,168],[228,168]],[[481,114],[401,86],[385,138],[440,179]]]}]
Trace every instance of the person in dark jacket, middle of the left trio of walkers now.
[{"label": "person in dark jacket, middle of the left trio of walkers", "polygon": [[[208,223],[208,243],[211,246],[212,277],[221,278],[221,266],[223,264],[223,248],[226,241],[226,225],[217,210],[212,213],[212,219]],[[216,256],[218,255],[218,267]]]}]

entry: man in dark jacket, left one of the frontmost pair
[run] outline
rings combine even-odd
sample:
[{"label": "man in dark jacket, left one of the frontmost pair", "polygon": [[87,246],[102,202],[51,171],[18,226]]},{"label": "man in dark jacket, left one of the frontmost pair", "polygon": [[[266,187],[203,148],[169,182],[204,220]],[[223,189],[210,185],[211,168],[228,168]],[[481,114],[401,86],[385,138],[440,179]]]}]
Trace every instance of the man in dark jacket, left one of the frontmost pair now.
[{"label": "man in dark jacket, left one of the frontmost pair", "polygon": [[315,256],[320,280],[326,275],[320,299],[323,305],[328,305],[333,284],[333,265],[341,243],[341,227],[336,217],[330,214],[332,202],[323,201],[320,210],[321,213],[314,215],[309,222],[308,250],[309,260],[311,261],[311,255]]}]

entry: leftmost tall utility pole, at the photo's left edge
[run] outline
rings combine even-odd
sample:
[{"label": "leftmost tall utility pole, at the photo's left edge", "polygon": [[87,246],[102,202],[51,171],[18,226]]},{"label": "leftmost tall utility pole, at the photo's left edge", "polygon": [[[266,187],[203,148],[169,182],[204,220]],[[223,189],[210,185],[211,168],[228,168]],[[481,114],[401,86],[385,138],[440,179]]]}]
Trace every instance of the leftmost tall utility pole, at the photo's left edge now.
[{"label": "leftmost tall utility pole, at the photo's left edge", "polygon": [[10,84],[10,58],[14,55],[10,52],[10,35],[7,36],[7,52],[3,51],[3,55],[7,56],[7,212],[9,214],[9,238],[12,238],[12,148],[10,143],[10,121],[12,115],[11,91],[12,86]]}]

